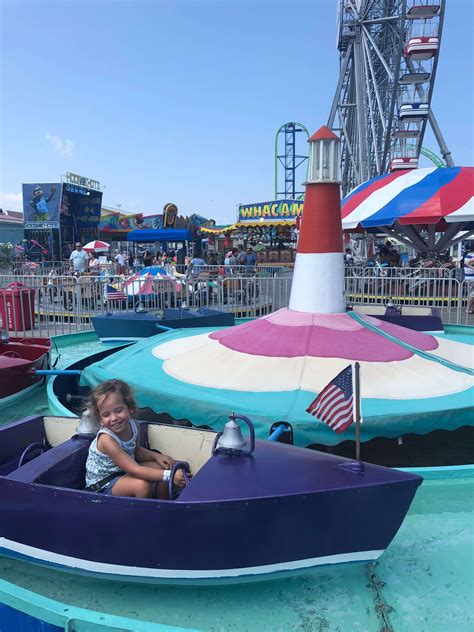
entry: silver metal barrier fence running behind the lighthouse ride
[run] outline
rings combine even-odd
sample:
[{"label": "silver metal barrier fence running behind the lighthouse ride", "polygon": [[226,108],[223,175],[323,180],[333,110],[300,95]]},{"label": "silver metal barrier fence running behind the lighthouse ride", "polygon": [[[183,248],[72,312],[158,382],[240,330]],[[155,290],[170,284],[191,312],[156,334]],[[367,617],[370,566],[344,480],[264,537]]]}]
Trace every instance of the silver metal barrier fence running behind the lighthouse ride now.
[{"label": "silver metal barrier fence running behind the lighthouse ride", "polygon": [[[376,313],[391,299],[407,311],[436,309],[446,323],[474,324],[474,317],[466,314],[467,281],[442,269],[432,269],[431,275],[427,270],[420,274],[396,270],[383,276],[371,269],[367,273],[367,268],[361,269],[363,275],[347,274],[347,303],[371,306]],[[288,273],[259,276],[216,272],[206,269],[173,282],[148,280],[146,293],[143,279],[127,286],[124,278],[117,276],[0,275],[1,326],[12,335],[52,336],[90,330],[93,316],[111,311],[210,307],[233,312],[237,318],[255,318],[289,304],[292,275]],[[12,283],[21,285],[9,288]],[[311,284],[309,279],[308,291]]]}]

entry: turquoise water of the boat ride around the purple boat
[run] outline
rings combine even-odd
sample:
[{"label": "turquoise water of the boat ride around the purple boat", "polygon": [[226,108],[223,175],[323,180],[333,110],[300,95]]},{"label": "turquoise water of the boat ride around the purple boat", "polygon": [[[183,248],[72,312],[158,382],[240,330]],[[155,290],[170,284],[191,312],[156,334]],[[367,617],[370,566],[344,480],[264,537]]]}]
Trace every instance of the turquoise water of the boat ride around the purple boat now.
[{"label": "turquoise water of the boat ride around the purple boat", "polygon": [[[80,340],[60,348],[60,365],[103,349],[91,336]],[[47,410],[45,393],[38,391],[1,413],[6,422]],[[273,582],[154,587],[76,577],[6,558],[0,558],[0,577],[69,605],[199,630],[467,632],[474,630],[473,501],[473,478],[425,480],[378,563],[325,567]]]}]

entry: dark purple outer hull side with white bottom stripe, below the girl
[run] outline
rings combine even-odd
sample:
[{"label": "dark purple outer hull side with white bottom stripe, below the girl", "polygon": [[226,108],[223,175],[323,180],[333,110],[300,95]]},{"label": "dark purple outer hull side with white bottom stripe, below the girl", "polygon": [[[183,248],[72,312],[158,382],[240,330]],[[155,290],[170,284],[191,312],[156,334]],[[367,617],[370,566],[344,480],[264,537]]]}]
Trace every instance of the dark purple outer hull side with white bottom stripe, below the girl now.
[{"label": "dark purple outer hull side with white bottom stripe, below the girl", "polygon": [[[388,497],[381,487],[355,497],[342,491],[304,498],[170,504],[33,489],[3,479],[0,552],[104,578],[251,581],[377,559],[398,530],[414,493],[413,487],[402,485],[390,490]],[[25,521],[25,515],[35,519]]]}]

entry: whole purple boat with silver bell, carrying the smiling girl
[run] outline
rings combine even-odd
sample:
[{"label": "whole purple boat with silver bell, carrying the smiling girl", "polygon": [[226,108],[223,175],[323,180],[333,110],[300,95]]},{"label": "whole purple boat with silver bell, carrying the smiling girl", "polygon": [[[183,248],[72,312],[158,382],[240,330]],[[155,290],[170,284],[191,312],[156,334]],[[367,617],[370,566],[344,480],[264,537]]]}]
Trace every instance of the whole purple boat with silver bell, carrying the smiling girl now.
[{"label": "whole purple boat with silver bell, carrying the smiling girl", "polygon": [[1,554],[156,583],[255,581],[366,562],[390,544],[422,481],[255,441],[251,423],[232,416],[217,434],[140,422],[142,445],[182,458],[194,476],[174,500],[104,496],[84,490],[92,435],[76,434],[78,421],[27,417],[0,428]]}]

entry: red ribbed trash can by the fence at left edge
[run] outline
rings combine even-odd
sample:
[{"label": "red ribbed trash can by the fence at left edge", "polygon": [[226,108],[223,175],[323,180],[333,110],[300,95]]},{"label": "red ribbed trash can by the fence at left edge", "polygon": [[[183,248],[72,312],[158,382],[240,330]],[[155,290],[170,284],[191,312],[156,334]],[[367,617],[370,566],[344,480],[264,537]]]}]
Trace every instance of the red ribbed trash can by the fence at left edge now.
[{"label": "red ribbed trash can by the fence at left edge", "polygon": [[35,322],[35,291],[22,283],[0,288],[2,327],[9,331],[25,331]]}]

